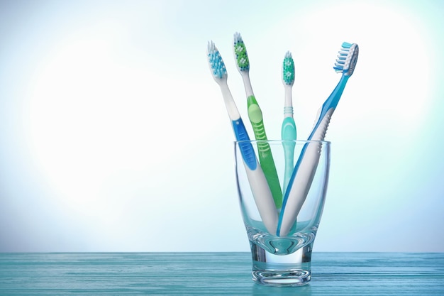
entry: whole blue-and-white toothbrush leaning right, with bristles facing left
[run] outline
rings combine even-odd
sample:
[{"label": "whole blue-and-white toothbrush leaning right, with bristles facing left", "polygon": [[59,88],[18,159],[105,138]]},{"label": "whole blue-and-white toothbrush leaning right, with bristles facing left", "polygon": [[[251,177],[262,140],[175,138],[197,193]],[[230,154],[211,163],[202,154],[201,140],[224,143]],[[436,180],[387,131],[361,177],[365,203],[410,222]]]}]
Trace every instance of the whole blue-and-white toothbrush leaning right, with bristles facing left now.
[{"label": "whole blue-and-white toothbrush leaning right, with bristles facing left", "polygon": [[[324,140],[331,116],[343,94],[345,84],[347,84],[350,76],[353,75],[358,55],[359,47],[357,44],[346,42],[342,44],[335,66],[333,67],[336,72],[342,73],[342,76],[330,97],[326,99],[326,102],[324,102],[321,109],[319,109],[318,119],[315,121],[308,141]],[[309,188],[311,187],[320,153],[321,143],[318,142],[306,143],[302,148],[301,155],[299,155],[287,191],[285,192],[282,211],[279,215],[277,236],[287,236],[290,229],[292,229],[296,221],[296,216],[299,214],[306,195],[309,192]]]}]

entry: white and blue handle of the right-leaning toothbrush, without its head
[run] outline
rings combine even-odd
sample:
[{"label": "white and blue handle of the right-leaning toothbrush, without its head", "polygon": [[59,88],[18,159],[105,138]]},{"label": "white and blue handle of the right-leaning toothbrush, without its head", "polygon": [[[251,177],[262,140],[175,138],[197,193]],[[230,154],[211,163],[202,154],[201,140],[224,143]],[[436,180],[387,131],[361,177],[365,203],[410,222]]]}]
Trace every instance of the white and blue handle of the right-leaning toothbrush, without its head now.
[{"label": "white and blue handle of the right-leaning toothbrush, without its head", "polygon": [[[311,134],[310,140],[323,141],[333,111],[335,111],[334,108],[328,109],[325,115],[318,120],[316,130]],[[320,113],[322,114],[322,112]],[[299,159],[294,166],[292,177],[289,181],[291,187],[288,187],[287,192],[285,192],[284,204],[277,226],[277,236],[287,236],[296,222],[296,217],[309,193],[320,156],[321,143],[306,143],[302,148],[301,155],[299,155]]]}]

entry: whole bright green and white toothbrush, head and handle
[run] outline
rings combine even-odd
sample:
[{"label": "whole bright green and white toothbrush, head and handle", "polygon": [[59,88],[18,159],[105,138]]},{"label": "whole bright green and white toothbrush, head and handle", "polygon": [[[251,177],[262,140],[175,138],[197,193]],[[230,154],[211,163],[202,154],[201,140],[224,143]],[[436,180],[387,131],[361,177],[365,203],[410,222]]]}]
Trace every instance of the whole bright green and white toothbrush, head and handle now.
[{"label": "whole bright green and white toothbrush, head and handle", "polygon": [[264,121],[262,119],[262,110],[257,104],[255,95],[252,92],[250,82],[250,61],[248,60],[247,49],[243,43],[240,33],[234,34],[233,52],[236,61],[236,66],[243,79],[245,93],[247,95],[248,104],[248,118],[252,124],[252,129],[255,133],[257,142],[257,149],[259,152],[260,165],[264,170],[268,185],[272,191],[274,204],[277,209],[282,207],[282,190],[277,176],[276,166],[274,165],[272,151],[267,141],[267,134],[265,133]]}]

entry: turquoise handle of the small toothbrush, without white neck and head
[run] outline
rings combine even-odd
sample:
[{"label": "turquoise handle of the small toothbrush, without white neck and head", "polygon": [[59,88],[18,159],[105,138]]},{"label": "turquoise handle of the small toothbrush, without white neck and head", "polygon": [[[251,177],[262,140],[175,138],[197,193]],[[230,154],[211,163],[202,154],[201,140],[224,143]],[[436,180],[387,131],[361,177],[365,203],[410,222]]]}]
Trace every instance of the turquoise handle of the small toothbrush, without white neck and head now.
[{"label": "turquoise handle of the small toothbrush, without white neck and head", "polygon": [[282,192],[287,191],[287,186],[292,177],[294,168],[294,147],[296,143],[296,124],[292,117],[285,117],[282,121],[281,130],[282,146],[284,148],[285,170],[284,170],[284,183],[282,185]]}]

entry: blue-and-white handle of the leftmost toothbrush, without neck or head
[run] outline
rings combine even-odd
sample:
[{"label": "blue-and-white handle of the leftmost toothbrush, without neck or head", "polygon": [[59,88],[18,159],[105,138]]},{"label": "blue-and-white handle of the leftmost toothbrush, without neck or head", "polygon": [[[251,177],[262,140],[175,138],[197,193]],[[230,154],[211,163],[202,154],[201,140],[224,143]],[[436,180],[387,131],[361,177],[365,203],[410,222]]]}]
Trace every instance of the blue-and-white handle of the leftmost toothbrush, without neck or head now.
[{"label": "blue-and-white handle of the leftmost toothbrush, without neck or head", "polygon": [[270,191],[262,168],[257,163],[255,150],[249,142],[250,138],[248,137],[242,119],[233,120],[232,124],[236,139],[238,141],[245,141],[238,143],[238,145],[257,210],[267,231],[274,235],[276,234],[278,216],[274,206],[272,192]]}]

